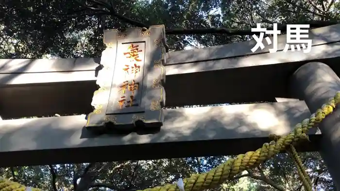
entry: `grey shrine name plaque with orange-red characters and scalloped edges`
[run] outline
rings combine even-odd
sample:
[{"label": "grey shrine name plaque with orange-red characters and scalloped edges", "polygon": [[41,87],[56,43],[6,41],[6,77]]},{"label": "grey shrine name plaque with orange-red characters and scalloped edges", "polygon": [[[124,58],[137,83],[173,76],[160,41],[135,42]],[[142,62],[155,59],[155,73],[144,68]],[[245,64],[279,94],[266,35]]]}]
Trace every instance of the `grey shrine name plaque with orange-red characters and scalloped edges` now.
[{"label": "grey shrine name plaque with orange-red characters and scalloped edges", "polygon": [[[104,32],[99,89],[86,128],[161,127],[165,105],[165,28],[132,28]],[[138,122],[138,123],[136,123]],[[139,124],[139,125],[138,125]]]}]

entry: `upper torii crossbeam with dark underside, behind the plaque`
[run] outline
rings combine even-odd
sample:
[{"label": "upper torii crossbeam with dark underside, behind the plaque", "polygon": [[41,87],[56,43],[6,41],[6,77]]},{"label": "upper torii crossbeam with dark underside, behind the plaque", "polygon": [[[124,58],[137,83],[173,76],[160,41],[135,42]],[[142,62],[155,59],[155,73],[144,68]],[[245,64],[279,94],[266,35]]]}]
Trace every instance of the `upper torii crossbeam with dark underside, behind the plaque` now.
[{"label": "upper torii crossbeam with dark underside, behind the plaque", "polygon": [[[268,49],[251,54],[253,45],[249,50],[237,48],[251,42],[170,52],[166,65],[166,106],[276,102],[275,97],[289,98],[289,77],[302,64],[311,60],[323,62],[340,74],[339,28],[340,25],[333,25],[311,30],[314,47],[307,54],[268,53]],[[281,38],[285,39],[285,35]],[[282,49],[283,44],[280,46]],[[238,53],[240,49],[249,51],[249,55],[240,56],[246,54]],[[218,56],[221,54],[224,57]],[[97,90],[99,59],[0,60],[0,63],[0,114],[4,119],[92,111],[88,104]],[[219,93],[211,94],[212,90]]]}]

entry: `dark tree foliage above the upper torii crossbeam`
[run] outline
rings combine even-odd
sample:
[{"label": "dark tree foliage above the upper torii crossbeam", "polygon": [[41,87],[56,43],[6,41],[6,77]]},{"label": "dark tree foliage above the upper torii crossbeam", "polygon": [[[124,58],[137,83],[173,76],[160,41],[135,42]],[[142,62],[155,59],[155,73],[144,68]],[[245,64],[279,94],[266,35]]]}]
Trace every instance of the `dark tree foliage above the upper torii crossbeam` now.
[{"label": "dark tree foliage above the upper torii crossbeam", "polygon": [[[168,29],[182,31],[249,30],[262,21],[337,22],[339,6],[336,0],[2,0],[0,56],[98,57],[104,48],[102,31],[105,28],[165,24]],[[248,39],[247,35],[221,33],[167,36],[171,51]]]}]

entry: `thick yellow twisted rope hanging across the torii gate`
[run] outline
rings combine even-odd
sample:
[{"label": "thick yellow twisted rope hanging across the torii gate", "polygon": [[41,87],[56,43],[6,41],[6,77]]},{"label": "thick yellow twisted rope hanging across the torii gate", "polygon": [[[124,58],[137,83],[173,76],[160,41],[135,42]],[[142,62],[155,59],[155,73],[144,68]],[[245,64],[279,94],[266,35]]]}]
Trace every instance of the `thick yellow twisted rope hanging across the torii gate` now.
[{"label": "thick yellow twisted rope hanging across the torii gate", "polygon": [[[297,124],[288,135],[282,137],[276,136],[277,139],[274,139],[276,141],[264,143],[262,148],[259,148],[256,151],[240,154],[235,159],[228,159],[226,162],[221,163],[218,167],[210,170],[209,172],[194,174],[188,178],[185,178],[183,180],[184,190],[202,191],[217,187],[225,180],[232,179],[238,173],[241,173],[246,169],[254,168],[266,159],[272,158],[280,151],[291,148],[290,145],[295,144],[300,140],[308,140],[306,132],[316,124],[320,123],[326,115],[330,114],[339,104],[339,102],[340,92],[337,92],[334,98],[331,98],[328,103],[321,107],[321,109],[318,109],[315,113],[313,113],[309,119],[305,119],[301,124]],[[270,135],[270,137],[275,137],[275,135]],[[299,174],[302,174],[302,177],[306,179],[306,177],[303,175],[303,172]],[[307,182],[306,185],[308,184],[309,183]],[[26,187],[20,185],[17,182],[6,179],[0,180],[0,191],[24,191],[25,188]],[[41,189],[32,189],[32,191],[41,191]],[[176,183],[174,183],[145,189],[143,191],[180,191],[180,188]]]}]

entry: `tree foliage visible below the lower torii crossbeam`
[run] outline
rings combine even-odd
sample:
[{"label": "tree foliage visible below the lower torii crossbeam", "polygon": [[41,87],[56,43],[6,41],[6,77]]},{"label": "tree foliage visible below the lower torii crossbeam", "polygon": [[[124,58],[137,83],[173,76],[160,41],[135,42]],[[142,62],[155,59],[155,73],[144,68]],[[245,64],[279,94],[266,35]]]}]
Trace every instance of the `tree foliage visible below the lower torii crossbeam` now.
[{"label": "tree foliage visible below the lower torii crossbeam", "polygon": [[[316,190],[335,190],[318,153],[302,153],[307,172]],[[228,157],[196,157],[121,162],[62,164],[3,168],[2,174],[21,184],[54,191],[135,191],[166,183],[180,177],[211,170]],[[214,191],[298,191],[296,168],[287,154],[279,154],[259,168],[237,175]]]}]

